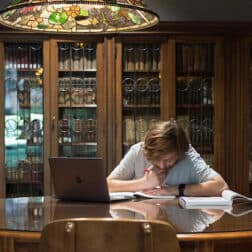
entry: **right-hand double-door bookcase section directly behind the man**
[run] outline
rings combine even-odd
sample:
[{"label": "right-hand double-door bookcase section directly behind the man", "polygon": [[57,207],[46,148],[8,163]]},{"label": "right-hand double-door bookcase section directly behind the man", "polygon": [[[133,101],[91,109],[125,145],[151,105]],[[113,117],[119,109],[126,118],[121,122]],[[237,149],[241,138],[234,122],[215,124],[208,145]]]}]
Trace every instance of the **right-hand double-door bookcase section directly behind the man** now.
[{"label": "right-hand double-door bookcase section directly behind the man", "polygon": [[[120,161],[130,145],[143,140],[152,123],[173,117],[186,128],[192,145],[223,173],[224,86],[223,64],[219,64],[223,62],[223,42],[216,37],[168,38],[158,42],[146,44],[138,40],[134,44],[129,38],[117,42],[116,160]],[[149,62],[144,59],[152,60],[153,48],[159,48],[158,68],[147,70],[146,74],[144,67],[147,64],[148,68]],[[134,59],[128,55],[129,50]],[[155,104],[151,97],[153,79],[157,92],[160,90]],[[181,94],[181,89],[186,91]]]}]

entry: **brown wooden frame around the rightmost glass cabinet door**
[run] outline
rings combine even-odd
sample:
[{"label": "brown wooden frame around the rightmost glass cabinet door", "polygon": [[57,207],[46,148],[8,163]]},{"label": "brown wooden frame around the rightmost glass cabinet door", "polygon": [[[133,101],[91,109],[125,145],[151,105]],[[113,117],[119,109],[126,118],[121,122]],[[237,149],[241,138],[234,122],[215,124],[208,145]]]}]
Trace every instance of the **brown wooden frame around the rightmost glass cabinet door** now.
[{"label": "brown wooden frame around the rightmost glass cabinet door", "polygon": [[[223,176],[225,175],[225,142],[224,142],[224,125],[225,125],[225,86],[224,86],[224,58],[223,58],[223,39],[214,36],[171,36],[168,39],[168,61],[167,93],[163,92],[162,96],[167,96],[168,104],[163,103],[169,109],[167,115],[163,116],[165,120],[170,117],[176,117],[176,43],[199,43],[209,42],[214,46],[214,169]],[[163,53],[165,54],[165,53]],[[164,67],[165,68],[165,67]],[[165,70],[164,70],[165,71]],[[165,99],[165,98],[164,98]]]}]

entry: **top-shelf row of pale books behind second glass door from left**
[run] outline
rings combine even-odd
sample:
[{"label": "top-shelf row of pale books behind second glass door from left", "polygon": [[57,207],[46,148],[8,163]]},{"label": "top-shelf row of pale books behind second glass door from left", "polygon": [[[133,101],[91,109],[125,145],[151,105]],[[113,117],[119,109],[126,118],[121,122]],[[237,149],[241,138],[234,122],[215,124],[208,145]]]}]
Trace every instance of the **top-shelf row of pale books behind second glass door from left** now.
[{"label": "top-shelf row of pale books behind second glass door from left", "polygon": [[95,70],[96,48],[76,47],[63,44],[59,46],[59,70]]}]

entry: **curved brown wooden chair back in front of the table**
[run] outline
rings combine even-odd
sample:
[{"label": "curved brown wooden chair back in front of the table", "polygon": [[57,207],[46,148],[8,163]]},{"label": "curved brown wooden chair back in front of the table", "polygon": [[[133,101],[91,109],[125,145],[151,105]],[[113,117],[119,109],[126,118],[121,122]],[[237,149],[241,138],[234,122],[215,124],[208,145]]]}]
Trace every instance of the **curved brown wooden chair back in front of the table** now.
[{"label": "curved brown wooden chair back in front of the table", "polygon": [[179,252],[174,228],[164,221],[78,218],[49,223],[40,252]]}]

